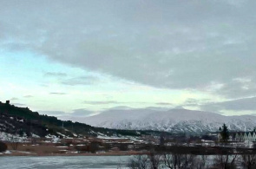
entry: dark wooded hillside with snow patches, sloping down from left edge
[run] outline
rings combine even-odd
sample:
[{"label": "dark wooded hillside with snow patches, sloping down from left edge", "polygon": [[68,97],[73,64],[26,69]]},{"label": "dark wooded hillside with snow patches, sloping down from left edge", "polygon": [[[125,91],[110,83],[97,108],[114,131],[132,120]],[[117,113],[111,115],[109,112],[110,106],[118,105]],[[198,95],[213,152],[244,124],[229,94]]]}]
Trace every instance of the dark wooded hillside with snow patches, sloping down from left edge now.
[{"label": "dark wooded hillside with snow patches, sloping down from left edge", "polygon": [[[91,127],[84,123],[71,120],[58,120],[54,116],[42,115],[31,111],[28,107],[15,107],[0,102],[0,132],[16,133],[40,137],[46,135],[81,136],[140,136],[152,134],[153,131],[116,130],[103,127]],[[156,133],[160,134],[160,133]]]}]

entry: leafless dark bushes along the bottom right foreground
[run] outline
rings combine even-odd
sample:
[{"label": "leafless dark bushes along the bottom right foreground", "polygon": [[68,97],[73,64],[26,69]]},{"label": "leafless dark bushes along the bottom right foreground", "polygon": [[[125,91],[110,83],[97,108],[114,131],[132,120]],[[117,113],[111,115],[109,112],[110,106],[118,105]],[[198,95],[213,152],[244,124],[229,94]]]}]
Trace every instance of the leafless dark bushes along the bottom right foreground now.
[{"label": "leafless dark bushes along the bottom right foreground", "polygon": [[194,155],[191,153],[148,153],[128,160],[130,169],[236,169],[256,168],[256,154]]}]

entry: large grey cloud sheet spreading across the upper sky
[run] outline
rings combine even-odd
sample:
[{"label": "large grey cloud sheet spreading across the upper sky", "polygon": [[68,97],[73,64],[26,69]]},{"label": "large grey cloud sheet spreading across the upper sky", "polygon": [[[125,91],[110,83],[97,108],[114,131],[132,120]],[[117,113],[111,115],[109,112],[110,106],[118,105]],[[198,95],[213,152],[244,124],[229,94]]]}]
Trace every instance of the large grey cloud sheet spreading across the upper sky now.
[{"label": "large grey cloud sheet spreading across the upper sky", "polygon": [[201,90],[216,83],[225,90],[214,94],[238,98],[256,92],[256,81],[246,90],[233,84],[235,78],[256,77],[255,4],[2,1],[0,37],[4,44],[23,45],[56,62],[156,88]]}]

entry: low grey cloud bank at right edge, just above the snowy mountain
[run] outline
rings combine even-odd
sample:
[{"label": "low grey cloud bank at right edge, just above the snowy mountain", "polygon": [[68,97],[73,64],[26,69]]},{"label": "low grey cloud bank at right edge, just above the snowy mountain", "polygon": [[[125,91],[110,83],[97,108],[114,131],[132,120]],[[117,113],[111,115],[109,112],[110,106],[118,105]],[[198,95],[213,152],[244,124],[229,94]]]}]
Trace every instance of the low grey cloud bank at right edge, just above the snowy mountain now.
[{"label": "low grey cloud bank at right edge, just above the snowy mountain", "polygon": [[255,111],[256,110],[256,97],[243,98],[232,101],[223,102],[210,102],[201,105],[202,110],[219,112],[221,110],[233,111]]}]

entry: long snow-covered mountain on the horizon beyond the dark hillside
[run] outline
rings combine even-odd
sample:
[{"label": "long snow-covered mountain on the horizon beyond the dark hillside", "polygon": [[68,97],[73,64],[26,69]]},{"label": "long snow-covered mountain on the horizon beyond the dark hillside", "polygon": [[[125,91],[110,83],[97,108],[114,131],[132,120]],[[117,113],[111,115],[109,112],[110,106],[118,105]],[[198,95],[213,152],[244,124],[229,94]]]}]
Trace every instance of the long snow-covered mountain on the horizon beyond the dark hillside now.
[{"label": "long snow-covered mountain on the horizon beyond the dark hillside", "polygon": [[256,116],[224,116],[186,109],[110,109],[90,117],[62,117],[62,120],[74,120],[94,127],[175,133],[216,132],[223,123],[234,131],[249,131],[256,127]]}]

